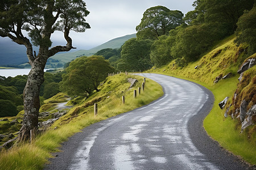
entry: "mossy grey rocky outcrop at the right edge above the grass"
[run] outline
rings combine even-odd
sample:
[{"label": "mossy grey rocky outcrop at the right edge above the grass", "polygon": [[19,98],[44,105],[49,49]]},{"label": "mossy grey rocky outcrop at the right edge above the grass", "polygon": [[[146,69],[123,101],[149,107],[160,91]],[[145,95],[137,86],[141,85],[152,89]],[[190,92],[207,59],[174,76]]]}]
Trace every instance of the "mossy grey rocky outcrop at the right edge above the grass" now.
[{"label": "mossy grey rocky outcrop at the right edge above the grass", "polygon": [[238,123],[241,125],[241,133],[256,122],[256,75],[255,68],[251,68],[254,65],[255,55],[246,59],[237,71],[240,74],[238,87],[232,100],[228,101],[230,105],[226,107],[224,114],[225,117],[231,116],[241,122],[241,124]]}]

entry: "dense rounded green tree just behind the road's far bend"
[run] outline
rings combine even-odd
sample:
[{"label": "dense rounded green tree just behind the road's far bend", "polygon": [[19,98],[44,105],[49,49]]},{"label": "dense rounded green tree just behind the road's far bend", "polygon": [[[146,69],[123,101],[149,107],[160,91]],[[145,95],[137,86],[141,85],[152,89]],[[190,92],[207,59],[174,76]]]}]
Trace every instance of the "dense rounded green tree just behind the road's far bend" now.
[{"label": "dense rounded green tree just behind the road's far bend", "polygon": [[144,71],[152,67],[150,61],[151,40],[127,40],[122,46],[121,59],[117,69],[121,71]]}]

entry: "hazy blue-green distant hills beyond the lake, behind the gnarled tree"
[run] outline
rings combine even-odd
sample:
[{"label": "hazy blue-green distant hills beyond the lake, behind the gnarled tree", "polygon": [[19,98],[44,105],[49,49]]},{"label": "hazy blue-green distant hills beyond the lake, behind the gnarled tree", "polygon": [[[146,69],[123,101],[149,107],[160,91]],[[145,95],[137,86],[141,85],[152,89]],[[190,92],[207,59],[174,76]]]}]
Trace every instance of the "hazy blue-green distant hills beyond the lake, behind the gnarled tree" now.
[{"label": "hazy blue-green distant hills beyond the lake, behind the gnarled tree", "polygon": [[[133,37],[136,37],[136,33],[115,38],[89,50],[57,53],[55,56],[52,56],[48,59],[46,69],[63,67],[65,63],[71,61],[72,59],[76,59],[77,57],[81,56],[92,56],[94,53],[101,49],[120,48],[125,43],[125,41]],[[0,66],[27,65],[28,59],[26,56],[26,48],[23,45],[18,45],[9,39],[2,39],[0,51]]]}]

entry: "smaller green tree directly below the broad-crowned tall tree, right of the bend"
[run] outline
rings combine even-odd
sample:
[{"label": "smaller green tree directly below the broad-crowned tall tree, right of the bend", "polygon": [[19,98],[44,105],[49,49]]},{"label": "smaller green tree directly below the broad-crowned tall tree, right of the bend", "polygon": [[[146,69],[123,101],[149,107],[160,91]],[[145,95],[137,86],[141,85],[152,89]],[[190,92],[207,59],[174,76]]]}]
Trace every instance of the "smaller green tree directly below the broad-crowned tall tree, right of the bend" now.
[{"label": "smaller green tree directly below the broad-crowned tall tree, right of the bend", "polygon": [[173,57],[171,56],[171,47],[175,39],[171,36],[162,35],[159,40],[154,41],[151,46],[150,59],[156,67],[166,65]]}]

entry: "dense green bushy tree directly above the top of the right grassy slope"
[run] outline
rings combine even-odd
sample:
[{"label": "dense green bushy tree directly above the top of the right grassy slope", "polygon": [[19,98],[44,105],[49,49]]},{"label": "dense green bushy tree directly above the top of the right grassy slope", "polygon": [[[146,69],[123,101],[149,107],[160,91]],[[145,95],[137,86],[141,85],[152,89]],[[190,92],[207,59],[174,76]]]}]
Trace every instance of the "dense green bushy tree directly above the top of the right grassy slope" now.
[{"label": "dense green bushy tree directly above the top of the right grassy slope", "polygon": [[226,35],[223,27],[224,25],[217,23],[204,23],[177,29],[175,45],[171,49],[172,56],[184,57],[188,62],[196,61]]}]

